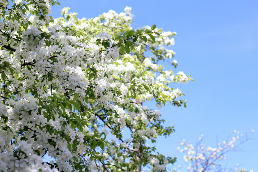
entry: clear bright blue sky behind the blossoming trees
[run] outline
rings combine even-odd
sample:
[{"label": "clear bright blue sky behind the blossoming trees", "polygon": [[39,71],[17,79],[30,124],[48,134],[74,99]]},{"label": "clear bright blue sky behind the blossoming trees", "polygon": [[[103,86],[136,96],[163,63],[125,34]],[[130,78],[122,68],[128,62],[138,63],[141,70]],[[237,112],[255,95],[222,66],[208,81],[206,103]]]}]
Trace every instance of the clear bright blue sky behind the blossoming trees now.
[{"label": "clear bright blue sky behind the blossoming trees", "polygon": [[[258,1],[111,1],[62,0],[52,8],[53,17],[70,7],[79,18],[94,18],[110,9],[124,12],[129,6],[135,15],[132,27],[156,24],[164,31],[177,32],[171,47],[179,64],[175,73],[191,74],[195,82],[176,84],[185,93],[187,108],[168,104],[162,118],[176,127],[176,132],[192,143],[204,134],[205,146],[216,146],[235,129],[249,133],[253,140],[243,151],[228,154],[229,166],[239,163],[246,170],[258,171]],[[164,63],[166,69],[171,68]],[[173,68],[172,68],[173,69]],[[155,105],[148,103],[152,108]],[[146,104],[145,104],[146,105]],[[182,139],[172,134],[156,143],[158,152],[168,154]],[[165,148],[165,149],[164,149]],[[182,154],[173,153],[183,164]]]}]

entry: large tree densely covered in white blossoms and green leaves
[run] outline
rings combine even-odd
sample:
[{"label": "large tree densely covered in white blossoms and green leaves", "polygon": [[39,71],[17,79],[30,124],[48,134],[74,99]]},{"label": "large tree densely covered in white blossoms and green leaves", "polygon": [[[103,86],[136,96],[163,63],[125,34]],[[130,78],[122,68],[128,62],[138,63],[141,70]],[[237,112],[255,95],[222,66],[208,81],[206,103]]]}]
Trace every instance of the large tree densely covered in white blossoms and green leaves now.
[{"label": "large tree densely covered in white blossoms and green leaves", "polygon": [[176,33],[131,28],[128,7],[94,19],[64,8],[53,19],[56,3],[0,1],[0,170],[165,171],[176,158],[146,141],[174,128],[135,100],[186,106],[171,84],[191,77],[158,65],[174,56]]}]

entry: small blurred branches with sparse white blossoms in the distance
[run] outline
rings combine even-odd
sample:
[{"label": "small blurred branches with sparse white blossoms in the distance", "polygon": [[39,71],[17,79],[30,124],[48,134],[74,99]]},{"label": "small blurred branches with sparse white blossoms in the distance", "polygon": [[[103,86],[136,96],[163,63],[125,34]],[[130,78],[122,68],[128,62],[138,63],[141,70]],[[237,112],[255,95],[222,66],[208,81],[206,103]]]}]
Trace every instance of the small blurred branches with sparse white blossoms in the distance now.
[{"label": "small blurred branches with sparse white blossoms in the distance", "polygon": [[[252,130],[254,132],[254,130]],[[203,135],[199,137],[199,141],[195,146],[191,142],[186,142],[183,140],[181,143],[182,148],[177,147],[177,150],[184,153],[184,161],[187,163],[187,166],[179,165],[179,169],[182,171],[189,172],[206,172],[206,171],[226,171],[226,172],[245,172],[245,170],[239,170],[239,164],[236,164],[235,167],[226,168],[223,166],[222,162],[226,159],[226,153],[230,151],[237,150],[236,148],[249,140],[247,134],[239,134],[238,131],[233,131],[234,136],[230,139],[230,135],[222,143],[217,143],[217,148],[212,148],[208,146],[204,148]],[[252,172],[251,170],[250,172]],[[173,172],[176,172],[173,170]],[[180,172],[180,171],[178,171]]]}]

